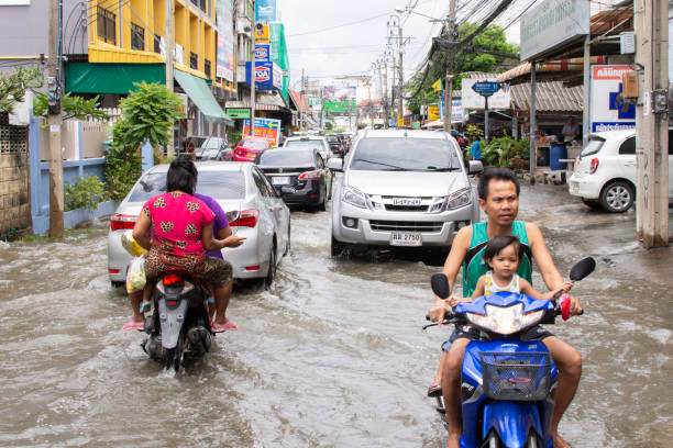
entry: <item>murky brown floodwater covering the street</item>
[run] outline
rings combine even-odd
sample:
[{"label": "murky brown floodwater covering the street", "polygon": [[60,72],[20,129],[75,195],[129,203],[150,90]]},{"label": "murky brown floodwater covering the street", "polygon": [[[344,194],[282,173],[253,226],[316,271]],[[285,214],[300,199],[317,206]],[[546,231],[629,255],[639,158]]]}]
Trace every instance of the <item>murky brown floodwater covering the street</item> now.
[{"label": "murky brown floodwater covering the street", "polygon": [[[565,276],[598,261],[573,289],[584,316],[550,328],[584,358],[562,434],[576,447],[671,446],[673,250],[641,253],[633,212],[589,211],[564,187],[523,187],[519,216]],[[443,446],[426,389],[449,329],[421,331],[440,268],[332,259],[329,211],[291,220],[274,290],[234,289],[239,331],[183,380],[146,357],[143,334],[119,331],[130,310],[109,287],[102,224],[0,243],[0,446]]]}]

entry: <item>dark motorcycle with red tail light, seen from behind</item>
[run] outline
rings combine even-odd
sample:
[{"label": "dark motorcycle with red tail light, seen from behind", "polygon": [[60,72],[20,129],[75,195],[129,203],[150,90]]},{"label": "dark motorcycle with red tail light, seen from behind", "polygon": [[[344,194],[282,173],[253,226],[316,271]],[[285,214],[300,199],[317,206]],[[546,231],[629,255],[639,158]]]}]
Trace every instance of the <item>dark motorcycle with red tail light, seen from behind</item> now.
[{"label": "dark motorcycle with red tail light, seen from behind", "polygon": [[210,351],[212,328],[208,289],[189,275],[170,270],[158,277],[145,312],[143,350],[166,370],[181,374],[186,358]]}]

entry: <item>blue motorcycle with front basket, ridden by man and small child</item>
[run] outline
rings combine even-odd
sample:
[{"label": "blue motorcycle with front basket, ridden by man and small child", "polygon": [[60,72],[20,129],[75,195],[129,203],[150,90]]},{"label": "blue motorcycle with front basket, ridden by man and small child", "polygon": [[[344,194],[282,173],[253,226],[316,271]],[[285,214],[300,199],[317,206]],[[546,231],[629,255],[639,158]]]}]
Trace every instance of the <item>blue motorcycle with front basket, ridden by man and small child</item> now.
[{"label": "blue motorcycle with front basket, ridden by man and small child", "polygon": [[[580,281],[595,267],[593,258],[584,258],[570,278]],[[449,296],[446,276],[433,275],[431,284],[438,296]],[[558,315],[570,317],[567,296],[556,303],[497,292],[460,303],[444,318],[444,324],[470,325],[482,334],[479,340],[470,341],[463,357],[461,448],[553,448],[550,425],[556,367],[542,341],[522,341],[519,335],[537,324],[553,324]],[[437,400],[445,423],[442,397]]]}]

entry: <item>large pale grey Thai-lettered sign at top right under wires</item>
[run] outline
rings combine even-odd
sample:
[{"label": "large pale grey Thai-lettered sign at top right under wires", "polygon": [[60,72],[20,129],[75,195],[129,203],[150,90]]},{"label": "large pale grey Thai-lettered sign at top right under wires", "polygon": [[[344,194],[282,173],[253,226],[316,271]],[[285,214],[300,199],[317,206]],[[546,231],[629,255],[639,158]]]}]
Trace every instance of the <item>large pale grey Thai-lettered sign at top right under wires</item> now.
[{"label": "large pale grey Thai-lettered sign at top right under wires", "polygon": [[521,18],[521,60],[589,32],[589,0],[544,0]]}]

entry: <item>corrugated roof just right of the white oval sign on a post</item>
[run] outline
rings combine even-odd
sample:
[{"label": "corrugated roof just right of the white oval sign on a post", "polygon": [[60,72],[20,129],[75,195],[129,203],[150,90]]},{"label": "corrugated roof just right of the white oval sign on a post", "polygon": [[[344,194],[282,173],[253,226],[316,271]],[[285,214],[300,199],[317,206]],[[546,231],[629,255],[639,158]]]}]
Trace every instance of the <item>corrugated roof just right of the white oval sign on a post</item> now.
[{"label": "corrugated roof just right of the white oval sign on a post", "polygon": [[[510,86],[511,102],[521,110],[530,109],[530,82]],[[582,112],[584,87],[563,87],[563,81],[537,83],[536,110],[545,112]]]}]

